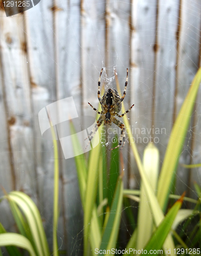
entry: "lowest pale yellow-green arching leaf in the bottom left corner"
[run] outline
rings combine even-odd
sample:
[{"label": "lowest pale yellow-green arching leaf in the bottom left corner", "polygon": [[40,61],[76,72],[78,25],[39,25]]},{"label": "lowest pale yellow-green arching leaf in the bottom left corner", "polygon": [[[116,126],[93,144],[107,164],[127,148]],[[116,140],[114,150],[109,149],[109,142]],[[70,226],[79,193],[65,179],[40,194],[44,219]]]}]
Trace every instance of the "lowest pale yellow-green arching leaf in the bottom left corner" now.
[{"label": "lowest pale yellow-green arching leaf in the bottom left corner", "polygon": [[26,249],[29,251],[31,256],[36,256],[30,241],[26,237],[23,237],[21,234],[17,233],[0,234],[0,247],[10,245]]}]

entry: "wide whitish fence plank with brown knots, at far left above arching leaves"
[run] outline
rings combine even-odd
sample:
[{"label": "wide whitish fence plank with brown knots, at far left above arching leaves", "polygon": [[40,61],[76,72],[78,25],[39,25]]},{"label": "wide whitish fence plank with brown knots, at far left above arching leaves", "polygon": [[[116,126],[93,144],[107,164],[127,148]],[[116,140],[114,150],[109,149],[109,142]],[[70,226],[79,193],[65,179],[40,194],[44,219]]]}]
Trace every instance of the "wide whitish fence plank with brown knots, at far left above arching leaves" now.
[{"label": "wide whitish fence plank with brown knots, at far left above arching leaves", "polygon": [[[30,84],[28,63],[24,48],[23,15],[2,18],[2,62],[5,77],[5,97],[10,121],[10,143],[13,166],[16,174],[16,189],[29,195],[35,194],[35,179],[32,172],[33,155],[31,128]],[[8,40],[9,39],[9,40]]]}]

